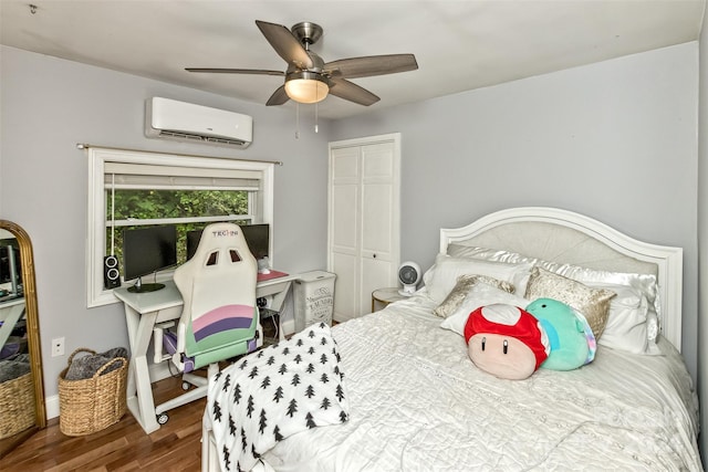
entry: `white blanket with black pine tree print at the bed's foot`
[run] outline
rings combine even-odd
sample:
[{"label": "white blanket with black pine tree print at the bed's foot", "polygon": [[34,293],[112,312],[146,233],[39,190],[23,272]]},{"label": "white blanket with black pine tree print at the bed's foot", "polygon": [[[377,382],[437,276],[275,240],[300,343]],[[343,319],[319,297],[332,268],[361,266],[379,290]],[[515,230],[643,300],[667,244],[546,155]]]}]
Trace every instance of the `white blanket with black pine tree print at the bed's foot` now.
[{"label": "white blanket with black pine tree print at the bed's foot", "polygon": [[223,471],[250,471],[296,432],[348,419],[340,354],[321,323],[252,353],[210,381],[207,412]]}]

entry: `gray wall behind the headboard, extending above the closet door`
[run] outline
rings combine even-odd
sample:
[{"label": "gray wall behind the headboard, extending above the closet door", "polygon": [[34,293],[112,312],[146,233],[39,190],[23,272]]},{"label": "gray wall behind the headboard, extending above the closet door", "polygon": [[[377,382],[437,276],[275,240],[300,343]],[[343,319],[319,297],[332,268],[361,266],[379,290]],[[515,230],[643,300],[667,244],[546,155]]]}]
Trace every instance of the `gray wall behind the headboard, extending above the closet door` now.
[{"label": "gray wall behind the headboard, extending above the closet door", "polygon": [[[402,75],[405,86],[405,75]],[[337,120],[332,139],[402,133],[402,260],[438,228],[552,206],[684,248],[684,339],[697,371],[698,43]]]}]

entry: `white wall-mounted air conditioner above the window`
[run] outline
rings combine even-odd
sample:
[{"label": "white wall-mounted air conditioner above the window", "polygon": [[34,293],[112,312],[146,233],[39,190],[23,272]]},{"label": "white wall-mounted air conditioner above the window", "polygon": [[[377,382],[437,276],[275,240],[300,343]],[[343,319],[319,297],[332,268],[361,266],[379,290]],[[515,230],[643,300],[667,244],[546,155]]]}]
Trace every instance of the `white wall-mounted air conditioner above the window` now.
[{"label": "white wall-mounted air conditioner above the window", "polygon": [[253,118],[156,96],[145,104],[145,136],[246,148],[253,140]]}]

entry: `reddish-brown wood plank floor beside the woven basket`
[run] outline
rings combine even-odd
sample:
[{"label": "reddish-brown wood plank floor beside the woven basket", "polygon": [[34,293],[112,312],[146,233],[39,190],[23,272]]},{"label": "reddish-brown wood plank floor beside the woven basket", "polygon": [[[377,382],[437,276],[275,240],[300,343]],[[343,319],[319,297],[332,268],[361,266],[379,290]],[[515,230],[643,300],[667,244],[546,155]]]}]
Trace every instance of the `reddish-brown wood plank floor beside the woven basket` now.
[{"label": "reddish-brown wood plank floor beside the woven basket", "polygon": [[[153,385],[156,402],[181,392],[181,380]],[[199,471],[201,416],[206,399],[170,411],[169,421],[145,434],[129,412],[121,421],[84,437],[64,436],[59,419],[0,459],[0,471]]]}]

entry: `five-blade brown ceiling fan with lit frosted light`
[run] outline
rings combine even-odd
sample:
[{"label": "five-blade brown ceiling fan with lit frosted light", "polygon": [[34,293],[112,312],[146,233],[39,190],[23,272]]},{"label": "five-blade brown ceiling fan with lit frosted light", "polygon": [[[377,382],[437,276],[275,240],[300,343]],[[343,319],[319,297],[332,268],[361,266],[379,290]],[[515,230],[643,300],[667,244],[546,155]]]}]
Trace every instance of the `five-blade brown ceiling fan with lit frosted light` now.
[{"label": "five-blade brown ceiling fan with lit frosted light", "polygon": [[288,99],[299,103],[317,103],[327,94],[357,103],[372,105],[381,98],[347,78],[371,77],[415,71],[418,63],[413,54],[368,55],[324,62],[310,45],[322,36],[322,27],[312,22],[301,22],[291,30],[282,24],[256,20],[270,45],[285,60],[288,69],[268,71],[260,69],[212,69],[186,67],[189,72],[220,74],[261,74],[285,77],[283,85],[271,95],[266,105],[282,105]]}]

